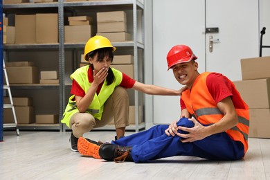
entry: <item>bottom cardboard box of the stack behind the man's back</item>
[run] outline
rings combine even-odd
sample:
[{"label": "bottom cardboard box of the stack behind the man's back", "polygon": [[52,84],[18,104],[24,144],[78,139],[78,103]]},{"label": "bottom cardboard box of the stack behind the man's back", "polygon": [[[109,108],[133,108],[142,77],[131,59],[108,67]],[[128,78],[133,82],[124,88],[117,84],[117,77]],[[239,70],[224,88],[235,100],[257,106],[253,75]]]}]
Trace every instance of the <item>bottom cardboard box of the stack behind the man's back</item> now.
[{"label": "bottom cardboard box of the stack behind the man's back", "polygon": [[270,138],[270,109],[249,109],[249,137]]}]

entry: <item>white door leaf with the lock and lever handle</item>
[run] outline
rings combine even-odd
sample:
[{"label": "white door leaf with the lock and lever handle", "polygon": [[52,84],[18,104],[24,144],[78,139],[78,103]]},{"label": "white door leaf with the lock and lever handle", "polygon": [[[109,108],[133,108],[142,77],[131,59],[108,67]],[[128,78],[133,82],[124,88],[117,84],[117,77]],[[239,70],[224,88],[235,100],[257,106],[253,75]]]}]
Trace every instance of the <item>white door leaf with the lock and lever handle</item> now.
[{"label": "white door leaf with the lock and lever handle", "polygon": [[259,54],[258,10],[258,0],[206,0],[206,71],[242,79],[241,58]]}]

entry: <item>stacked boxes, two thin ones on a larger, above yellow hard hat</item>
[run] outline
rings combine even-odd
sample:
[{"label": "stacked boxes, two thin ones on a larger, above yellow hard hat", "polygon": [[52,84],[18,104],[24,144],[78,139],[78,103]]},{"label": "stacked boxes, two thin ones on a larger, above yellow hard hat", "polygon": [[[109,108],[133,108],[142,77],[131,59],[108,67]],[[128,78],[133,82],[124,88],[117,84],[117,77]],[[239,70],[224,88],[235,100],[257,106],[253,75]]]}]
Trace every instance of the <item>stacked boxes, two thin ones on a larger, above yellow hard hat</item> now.
[{"label": "stacked boxes, two thin ones on a larger, above yellow hard hat", "polygon": [[96,34],[92,18],[88,16],[69,17],[69,26],[64,26],[64,42],[85,43]]}]

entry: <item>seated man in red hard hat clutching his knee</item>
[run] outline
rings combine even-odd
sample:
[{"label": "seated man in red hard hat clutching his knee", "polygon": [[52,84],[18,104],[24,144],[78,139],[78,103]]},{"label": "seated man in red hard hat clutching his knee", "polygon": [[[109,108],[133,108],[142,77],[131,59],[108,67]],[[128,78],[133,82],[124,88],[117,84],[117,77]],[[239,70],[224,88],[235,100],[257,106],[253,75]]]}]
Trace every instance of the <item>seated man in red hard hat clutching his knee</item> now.
[{"label": "seated man in red hard hat clutching his knee", "polygon": [[[186,91],[181,118],[100,146],[83,138],[85,150],[107,161],[147,162],[168,156],[238,160],[248,150],[249,107],[235,85],[220,73],[199,73],[197,56],[186,45],[172,47],[168,70]],[[82,153],[83,154],[83,153]]]}]

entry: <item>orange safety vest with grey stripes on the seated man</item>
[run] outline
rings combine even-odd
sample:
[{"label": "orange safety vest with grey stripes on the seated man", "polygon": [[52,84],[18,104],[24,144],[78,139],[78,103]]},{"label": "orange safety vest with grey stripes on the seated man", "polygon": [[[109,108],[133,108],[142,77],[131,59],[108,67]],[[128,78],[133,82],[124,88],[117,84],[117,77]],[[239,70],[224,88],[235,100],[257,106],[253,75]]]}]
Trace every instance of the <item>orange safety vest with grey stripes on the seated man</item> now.
[{"label": "orange safety vest with grey stripes on the seated man", "polygon": [[[185,102],[188,112],[203,125],[217,123],[222,117],[224,117],[224,114],[218,109],[215,100],[208,91],[206,78],[209,74],[209,72],[201,73],[192,85],[192,91],[187,89],[181,96],[183,102]],[[235,88],[233,82],[231,82],[231,84]],[[235,91],[239,93],[236,89]],[[242,102],[244,104],[244,109],[235,109],[238,116],[237,125],[226,130],[226,133],[234,141],[240,141],[244,145],[244,153],[246,153],[249,147],[249,107],[246,105],[244,100],[242,100]]]}]

